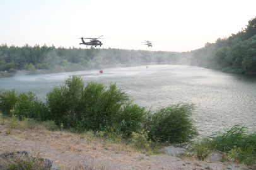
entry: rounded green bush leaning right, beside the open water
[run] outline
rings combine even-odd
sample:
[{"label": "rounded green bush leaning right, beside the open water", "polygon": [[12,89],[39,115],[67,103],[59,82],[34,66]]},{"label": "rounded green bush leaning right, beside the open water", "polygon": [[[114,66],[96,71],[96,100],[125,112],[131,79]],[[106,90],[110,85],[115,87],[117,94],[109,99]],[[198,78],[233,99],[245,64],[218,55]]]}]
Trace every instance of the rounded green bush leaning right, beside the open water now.
[{"label": "rounded green bush leaning right, beside the open water", "polygon": [[149,131],[149,139],[177,144],[190,142],[198,135],[194,120],[190,118],[194,108],[194,104],[178,103],[148,114],[144,130]]}]

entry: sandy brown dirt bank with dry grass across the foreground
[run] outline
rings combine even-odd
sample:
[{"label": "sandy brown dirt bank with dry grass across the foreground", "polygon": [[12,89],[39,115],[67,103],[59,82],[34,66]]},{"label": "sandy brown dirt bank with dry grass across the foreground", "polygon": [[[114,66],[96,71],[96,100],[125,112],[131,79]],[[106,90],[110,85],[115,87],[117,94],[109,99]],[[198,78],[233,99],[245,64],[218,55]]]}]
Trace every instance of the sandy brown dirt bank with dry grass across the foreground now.
[{"label": "sandy brown dirt bank with dry grass across the foreground", "polygon": [[52,159],[62,169],[86,164],[105,169],[249,169],[230,162],[180,159],[170,154],[147,155],[125,147],[124,144],[107,144],[83,139],[64,132],[12,129],[0,125],[0,154],[27,150],[32,154]]}]

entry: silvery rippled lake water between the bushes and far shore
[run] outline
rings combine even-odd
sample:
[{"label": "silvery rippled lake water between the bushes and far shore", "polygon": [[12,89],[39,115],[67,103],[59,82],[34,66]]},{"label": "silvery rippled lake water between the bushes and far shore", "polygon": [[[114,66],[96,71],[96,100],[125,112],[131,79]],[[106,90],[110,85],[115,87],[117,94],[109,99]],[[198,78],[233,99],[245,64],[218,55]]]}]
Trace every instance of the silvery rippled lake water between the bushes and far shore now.
[{"label": "silvery rippled lake water between the bushes and far shore", "polygon": [[179,101],[194,103],[193,118],[201,135],[211,135],[233,125],[256,128],[256,77],[227,74],[200,67],[183,65],[149,65],[67,72],[40,76],[0,79],[0,88],[32,91],[45,100],[46,94],[71,74],[81,75],[84,82],[106,85],[116,82],[134,103],[158,109]]}]

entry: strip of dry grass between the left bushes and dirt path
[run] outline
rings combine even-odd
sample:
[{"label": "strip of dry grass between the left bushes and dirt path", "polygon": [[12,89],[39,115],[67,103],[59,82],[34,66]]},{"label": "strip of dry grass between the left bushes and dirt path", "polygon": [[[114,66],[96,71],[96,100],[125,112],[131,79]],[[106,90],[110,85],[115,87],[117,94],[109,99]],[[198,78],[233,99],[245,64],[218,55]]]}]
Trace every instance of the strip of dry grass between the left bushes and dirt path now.
[{"label": "strip of dry grass between the left bushes and dirt path", "polygon": [[[26,120],[27,121],[27,120]],[[38,145],[46,144],[54,149],[73,152],[80,155],[90,155],[91,157],[105,157],[106,154],[123,154],[127,157],[138,156],[144,150],[136,150],[131,144],[113,142],[108,139],[91,137],[86,133],[71,133],[64,130],[50,131],[42,123],[37,122],[35,126],[29,128],[25,121],[11,120],[6,118],[4,125],[1,126],[1,133],[26,141],[37,142]],[[11,128],[10,128],[11,127]],[[10,132],[10,133],[6,133]]]}]

